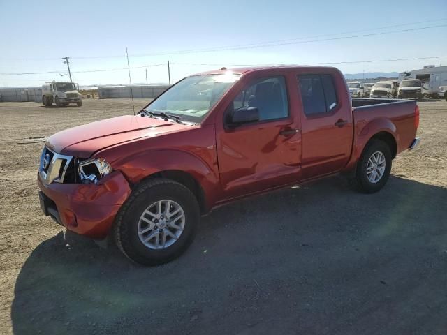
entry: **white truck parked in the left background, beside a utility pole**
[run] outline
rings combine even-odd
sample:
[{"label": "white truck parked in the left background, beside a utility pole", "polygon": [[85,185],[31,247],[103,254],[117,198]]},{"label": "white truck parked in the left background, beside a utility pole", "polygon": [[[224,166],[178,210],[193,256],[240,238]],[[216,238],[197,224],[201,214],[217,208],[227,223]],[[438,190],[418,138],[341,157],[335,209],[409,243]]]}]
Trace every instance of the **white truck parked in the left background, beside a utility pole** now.
[{"label": "white truck parked in the left background, beside a utility pole", "polygon": [[57,107],[75,103],[82,106],[82,96],[74,82],[45,82],[42,85],[42,104],[49,107],[56,103]]}]

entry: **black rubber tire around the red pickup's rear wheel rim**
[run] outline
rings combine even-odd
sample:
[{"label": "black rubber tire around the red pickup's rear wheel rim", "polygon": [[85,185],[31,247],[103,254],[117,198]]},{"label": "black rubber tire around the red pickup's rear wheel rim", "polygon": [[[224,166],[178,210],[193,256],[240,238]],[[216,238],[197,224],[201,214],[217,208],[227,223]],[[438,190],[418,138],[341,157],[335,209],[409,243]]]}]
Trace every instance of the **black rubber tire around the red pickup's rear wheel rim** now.
[{"label": "black rubber tire around the red pickup's rear wheel rim", "polygon": [[[377,151],[381,152],[383,156],[385,156],[385,170],[381,179],[376,181],[376,183],[372,183],[372,181],[369,181],[367,176],[367,164],[372,154]],[[357,162],[353,177],[349,179],[351,186],[362,193],[374,193],[379,191],[383,188],[383,186],[385,186],[386,181],[388,181],[388,177],[390,177],[392,161],[393,158],[391,156],[391,150],[390,147],[388,147],[388,144],[381,140],[370,140]]]}]

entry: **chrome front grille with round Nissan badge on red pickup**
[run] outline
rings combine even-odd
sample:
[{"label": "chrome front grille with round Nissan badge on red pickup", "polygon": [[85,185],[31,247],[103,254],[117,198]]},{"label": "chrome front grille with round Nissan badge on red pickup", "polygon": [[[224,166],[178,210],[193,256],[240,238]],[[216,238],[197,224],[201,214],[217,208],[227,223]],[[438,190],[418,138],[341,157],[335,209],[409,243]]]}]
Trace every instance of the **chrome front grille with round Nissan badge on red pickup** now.
[{"label": "chrome front grille with round Nissan badge on red pickup", "polygon": [[[43,148],[39,174],[45,184],[64,183],[68,168],[70,168],[72,156],[65,156],[51,151],[47,147]],[[74,170],[74,165],[73,165]]]}]

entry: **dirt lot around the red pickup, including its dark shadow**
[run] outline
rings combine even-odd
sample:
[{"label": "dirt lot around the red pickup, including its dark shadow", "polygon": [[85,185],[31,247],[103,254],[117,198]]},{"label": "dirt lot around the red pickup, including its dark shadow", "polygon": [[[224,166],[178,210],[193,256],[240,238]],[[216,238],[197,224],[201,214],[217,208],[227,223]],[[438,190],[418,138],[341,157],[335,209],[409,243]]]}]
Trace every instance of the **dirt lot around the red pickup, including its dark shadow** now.
[{"label": "dirt lot around the red pickup, including its dark shadow", "polygon": [[381,192],[335,177],[230,204],[145,268],[43,216],[43,143],[17,143],[131,103],[0,103],[0,334],[447,334],[447,102],[419,105]]}]

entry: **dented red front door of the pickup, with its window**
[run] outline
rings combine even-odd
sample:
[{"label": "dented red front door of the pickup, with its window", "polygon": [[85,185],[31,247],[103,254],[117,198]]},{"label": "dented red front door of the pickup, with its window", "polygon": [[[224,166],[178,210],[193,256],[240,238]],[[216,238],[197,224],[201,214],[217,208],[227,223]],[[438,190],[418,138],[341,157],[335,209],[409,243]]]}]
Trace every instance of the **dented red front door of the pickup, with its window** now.
[{"label": "dented red front door of the pickup, with its window", "polygon": [[240,107],[257,107],[260,120],[226,125],[217,133],[223,199],[237,198],[298,180],[299,120],[291,115],[286,77],[251,81],[237,94],[226,116]]}]

